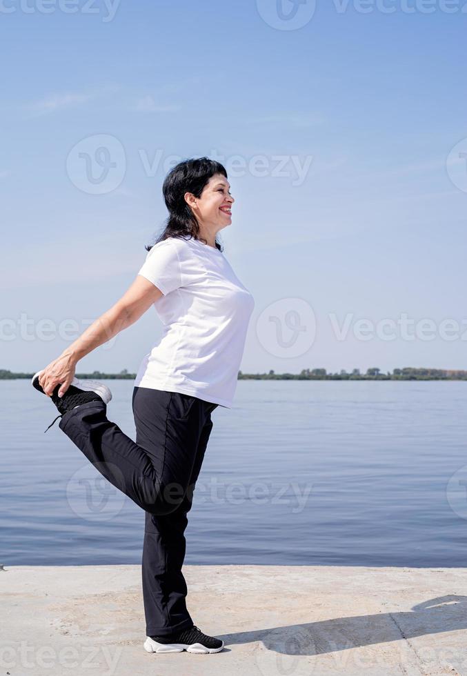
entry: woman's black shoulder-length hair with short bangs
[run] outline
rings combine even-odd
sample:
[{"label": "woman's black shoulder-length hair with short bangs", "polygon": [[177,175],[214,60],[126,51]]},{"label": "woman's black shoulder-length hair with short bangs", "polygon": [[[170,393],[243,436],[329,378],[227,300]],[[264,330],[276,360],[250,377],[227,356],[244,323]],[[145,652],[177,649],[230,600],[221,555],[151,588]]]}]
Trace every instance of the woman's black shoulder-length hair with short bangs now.
[{"label": "woman's black shoulder-length hair with short bangs", "polygon": [[[225,167],[208,157],[183,160],[168,172],[162,186],[163,199],[169,212],[168,219],[161,235],[154,243],[146,245],[146,250],[150,251],[157,242],[168,237],[191,235],[207,243],[199,237],[199,223],[186,203],[184,195],[186,192],[192,192],[195,197],[201,197],[204,186],[216,174],[222,174],[227,178]],[[222,250],[218,241],[216,246]]]}]

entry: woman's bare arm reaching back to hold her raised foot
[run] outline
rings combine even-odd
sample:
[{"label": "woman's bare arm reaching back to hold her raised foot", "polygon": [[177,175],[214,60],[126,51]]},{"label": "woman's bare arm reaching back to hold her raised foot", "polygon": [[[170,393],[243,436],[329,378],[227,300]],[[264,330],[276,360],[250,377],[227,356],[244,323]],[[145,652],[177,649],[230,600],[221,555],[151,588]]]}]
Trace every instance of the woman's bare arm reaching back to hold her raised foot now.
[{"label": "woman's bare arm reaching back to hold her raised foot", "polygon": [[134,324],[162,295],[157,286],[142,275],[137,275],[117,303],[93,321],[74,343],[63,350],[60,357],[42,370],[39,384],[46,395],[50,397],[57,385],[61,384],[59,396],[63,396],[74,377],[79,359]]}]

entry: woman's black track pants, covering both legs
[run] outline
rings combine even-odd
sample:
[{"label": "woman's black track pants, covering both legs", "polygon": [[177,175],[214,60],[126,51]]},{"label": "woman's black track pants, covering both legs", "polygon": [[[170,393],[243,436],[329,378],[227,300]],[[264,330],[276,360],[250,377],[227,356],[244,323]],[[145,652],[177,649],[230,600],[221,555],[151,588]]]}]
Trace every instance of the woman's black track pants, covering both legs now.
[{"label": "woman's black track pants, covering both legs", "polygon": [[135,387],[136,442],[90,401],[67,412],[59,427],[99,470],[146,512],[142,583],[146,635],[194,624],[186,608],[184,531],[212,430],[211,404],[192,395]]}]

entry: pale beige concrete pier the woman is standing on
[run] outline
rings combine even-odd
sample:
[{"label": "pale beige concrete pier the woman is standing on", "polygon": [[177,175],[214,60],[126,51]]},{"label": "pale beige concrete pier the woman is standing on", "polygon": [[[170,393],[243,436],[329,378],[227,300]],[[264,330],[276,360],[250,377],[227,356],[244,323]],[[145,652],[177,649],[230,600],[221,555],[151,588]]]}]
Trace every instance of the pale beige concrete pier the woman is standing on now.
[{"label": "pale beige concrete pier the woman is standing on", "polygon": [[184,566],[214,655],[149,654],[140,566],[4,566],[0,676],[467,675],[467,569]]}]

